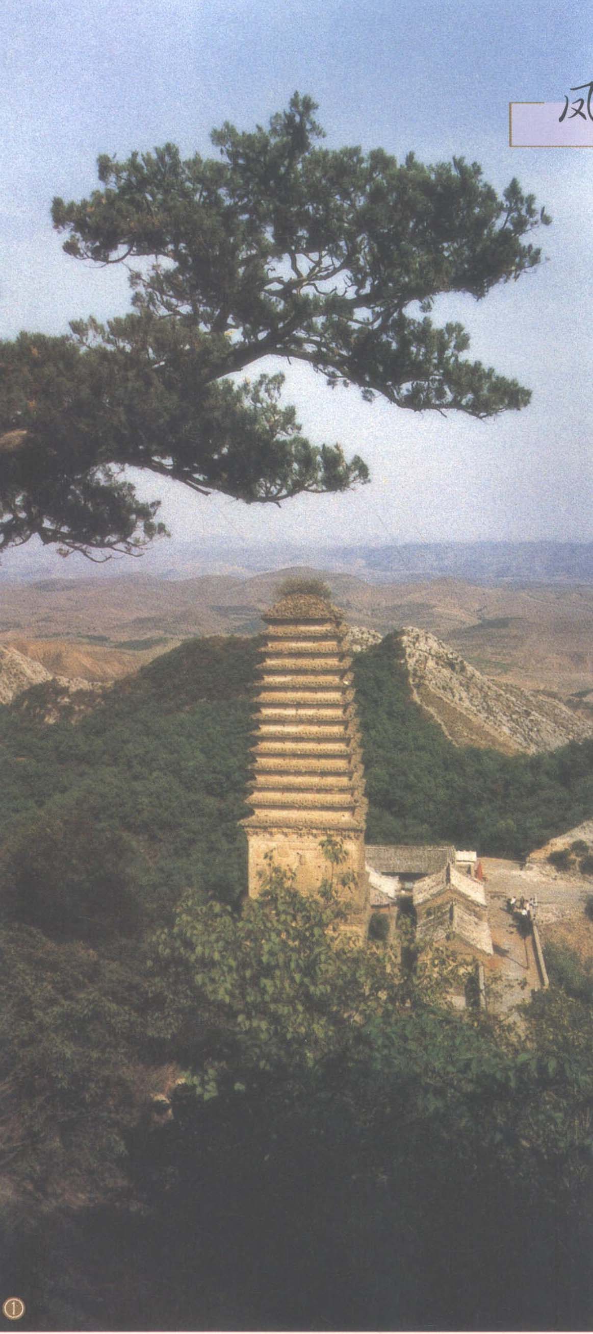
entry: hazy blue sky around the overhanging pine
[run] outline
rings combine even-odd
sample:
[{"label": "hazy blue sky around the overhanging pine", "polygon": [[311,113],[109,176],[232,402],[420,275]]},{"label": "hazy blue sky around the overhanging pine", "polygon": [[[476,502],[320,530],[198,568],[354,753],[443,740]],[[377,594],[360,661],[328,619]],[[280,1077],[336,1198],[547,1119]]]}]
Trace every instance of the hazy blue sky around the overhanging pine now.
[{"label": "hazy blue sky around the overhanging pine", "polygon": [[[508,147],[509,100],[558,101],[593,79],[586,5],[4,0],[0,52],[1,338],[63,332],[72,317],[127,307],[124,273],[68,259],[49,221],[53,195],[93,188],[99,152],[167,140],[208,152],[212,127],[265,121],[295,88],[320,103],[330,147],[464,153],[497,188],[517,175],[553,215],[538,271],[480,304],[448,300],[434,312],[461,317],[470,355],[533,390],[528,410],[488,424],[420,418],[288,370],[305,430],[360,451],[372,484],[280,511],[171,487],[163,508],[177,536],[593,539],[593,151]],[[157,480],[143,490],[159,494]]]}]

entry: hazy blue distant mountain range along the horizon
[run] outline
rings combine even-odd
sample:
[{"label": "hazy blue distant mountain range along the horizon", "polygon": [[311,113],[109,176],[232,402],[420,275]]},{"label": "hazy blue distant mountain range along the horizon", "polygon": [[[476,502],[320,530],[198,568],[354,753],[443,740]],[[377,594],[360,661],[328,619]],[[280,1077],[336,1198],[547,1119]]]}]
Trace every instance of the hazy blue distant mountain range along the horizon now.
[{"label": "hazy blue distant mountain range along the horizon", "polygon": [[55,552],[29,547],[8,552],[4,580],[101,579],[129,575],[132,567],[159,579],[204,575],[237,578],[287,566],[314,566],[354,574],[372,583],[465,579],[482,584],[593,583],[592,542],[405,542],[384,546],[305,543],[155,542],[139,560],[121,558],[93,564],[71,556],[57,568]]}]

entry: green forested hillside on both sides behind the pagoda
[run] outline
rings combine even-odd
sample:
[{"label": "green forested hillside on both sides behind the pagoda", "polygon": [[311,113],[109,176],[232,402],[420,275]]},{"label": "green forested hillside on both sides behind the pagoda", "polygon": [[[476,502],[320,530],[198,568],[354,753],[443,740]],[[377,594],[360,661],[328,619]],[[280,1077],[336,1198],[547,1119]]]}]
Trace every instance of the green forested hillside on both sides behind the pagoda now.
[{"label": "green forested hillside on both sides behind the pagoda", "polygon": [[[51,684],[0,710],[0,836],[21,883],[35,878],[28,860],[40,839],[44,879],[57,855],[49,846],[64,843],[71,862],[80,847],[71,890],[80,902],[97,839],[117,832],[139,911],[175,902],[187,884],[235,899],[257,651],[253,639],[189,640],[117,683],[76,726],[37,722]],[[593,814],[593,742],[532,756],[453,746],[412,702],[397,635],[356,656],[354,679],[369,842],[441,839],[521,855]]]}]

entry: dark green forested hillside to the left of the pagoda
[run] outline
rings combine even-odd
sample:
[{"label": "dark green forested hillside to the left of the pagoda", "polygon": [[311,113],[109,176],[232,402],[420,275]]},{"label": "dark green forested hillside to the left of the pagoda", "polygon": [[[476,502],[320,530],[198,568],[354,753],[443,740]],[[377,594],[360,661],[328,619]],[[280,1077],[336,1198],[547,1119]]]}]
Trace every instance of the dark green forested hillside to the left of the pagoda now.
[{"label": "dark green forested hillside to the left of the pagoda", "polygon": [[203,640],[123,682],[80,726],[31,719],[44,687],[25,718],[0,711],[3,878],[19,919],[60,936],[69,920],[84,938],[91,914],[95,939],[97,895],[145,923],[188,884],[237,898],[255,663],[251,640]]}]

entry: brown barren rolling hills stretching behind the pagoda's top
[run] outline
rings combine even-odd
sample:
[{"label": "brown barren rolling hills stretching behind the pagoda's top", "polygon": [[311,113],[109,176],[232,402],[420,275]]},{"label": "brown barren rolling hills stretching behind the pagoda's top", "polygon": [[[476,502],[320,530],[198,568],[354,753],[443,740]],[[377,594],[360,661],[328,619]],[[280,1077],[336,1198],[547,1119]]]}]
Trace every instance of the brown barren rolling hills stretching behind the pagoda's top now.
[{"label": "brown barren rolling hills stretching behind the pagoda's top", "polygon": [[[360,550],[360,548],[358,548]],[[285,574],[317,574],[350,626],[416,626],[488,676],[593,704],[593,580],[370,580],[328,566],[165,579],[140,562],[112,578],[0,582],[0,644],[63,676],[105,680],[193,635],[253,635]]]}]

